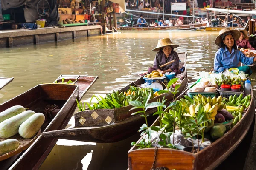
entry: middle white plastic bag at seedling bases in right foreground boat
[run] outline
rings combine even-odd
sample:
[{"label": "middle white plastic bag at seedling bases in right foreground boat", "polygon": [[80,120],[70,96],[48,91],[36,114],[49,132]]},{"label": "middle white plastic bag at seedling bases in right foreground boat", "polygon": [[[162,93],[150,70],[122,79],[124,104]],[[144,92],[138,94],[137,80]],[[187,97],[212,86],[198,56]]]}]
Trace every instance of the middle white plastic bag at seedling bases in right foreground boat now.
[{"label": "middle white plastic bag at seedling bases in right foreground boat", "polygon": [[[174,135],[174,142],[173,142]],[[175,130],[175,133],[172,133],[170,136],[170,143],[174,145],[181,145],[184,147],[192,146],[192,143],[184,138],[184,135],[181,133],[181,130]]]}]

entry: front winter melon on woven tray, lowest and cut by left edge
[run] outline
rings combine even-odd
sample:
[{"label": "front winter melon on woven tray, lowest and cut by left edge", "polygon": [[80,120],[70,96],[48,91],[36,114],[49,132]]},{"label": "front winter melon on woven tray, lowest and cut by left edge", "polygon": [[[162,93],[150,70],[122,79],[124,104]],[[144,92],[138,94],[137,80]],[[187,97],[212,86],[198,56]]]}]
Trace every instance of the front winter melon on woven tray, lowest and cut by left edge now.
[{"label": "front winter melon on woven tray, lowest and cut by left edge", "polygon": [[20,143],[17,139],[6,139],[0,142],[0,155],[9,153],[19,147]]}]

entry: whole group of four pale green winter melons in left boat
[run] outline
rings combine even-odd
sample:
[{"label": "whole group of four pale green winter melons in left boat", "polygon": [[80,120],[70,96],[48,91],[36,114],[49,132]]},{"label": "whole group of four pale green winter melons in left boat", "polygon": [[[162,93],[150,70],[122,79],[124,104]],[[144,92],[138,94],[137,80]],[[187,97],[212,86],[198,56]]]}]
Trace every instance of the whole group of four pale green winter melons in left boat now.
[{"label": "whole group of four pale green winter melons in left boat", "polygon": [[[25,139],[32,138],[44,123],[44,114],[26,111],[23,106],[16,105],[0,113],[0,138],[9,138],[19,133]],[[0,155],[19,147],[16,139],[0,142]]]}]

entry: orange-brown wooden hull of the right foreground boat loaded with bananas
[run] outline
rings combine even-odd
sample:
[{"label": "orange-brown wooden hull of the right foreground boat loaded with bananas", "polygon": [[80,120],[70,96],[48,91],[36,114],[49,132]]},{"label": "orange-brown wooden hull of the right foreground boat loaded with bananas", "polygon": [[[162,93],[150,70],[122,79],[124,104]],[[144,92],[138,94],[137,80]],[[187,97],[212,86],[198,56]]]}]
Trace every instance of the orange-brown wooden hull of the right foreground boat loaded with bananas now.
[{"label": "orange-brown wooden hull of the right foreground boat loaded with bananas", "polygon": [[[253,96],[253,92],[251,93]],[[167,167],[170,170],[212,170],[223,162],[246,136],[254,117],[253,97],[242,119],[221,138],[199,153],[189,153],[168,148],[157,149],[157,161],[155,167]],[[158,119],[154,126],[158,125]],[[140,138],[141,140],[142,138]],[[139,141],[140,141],[139,140]],[[129,170],[150,169],[153,164],[155,148],[136,149],[131,147],[128,152]]]}]

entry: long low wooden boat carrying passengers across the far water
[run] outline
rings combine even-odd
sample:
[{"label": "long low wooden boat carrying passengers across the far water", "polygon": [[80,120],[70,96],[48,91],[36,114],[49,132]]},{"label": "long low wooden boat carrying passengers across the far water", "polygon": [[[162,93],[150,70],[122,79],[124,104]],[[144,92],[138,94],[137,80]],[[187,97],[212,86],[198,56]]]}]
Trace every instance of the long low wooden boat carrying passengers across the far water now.
[{"label": "long low wooden boat carrying passengers across the far water", "polygon": [[191,30],[206,27],[206,23],[164,27],[120,27],[120,30]]}]

